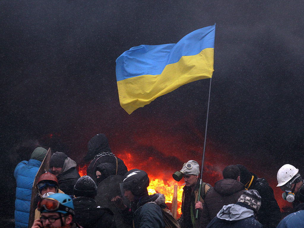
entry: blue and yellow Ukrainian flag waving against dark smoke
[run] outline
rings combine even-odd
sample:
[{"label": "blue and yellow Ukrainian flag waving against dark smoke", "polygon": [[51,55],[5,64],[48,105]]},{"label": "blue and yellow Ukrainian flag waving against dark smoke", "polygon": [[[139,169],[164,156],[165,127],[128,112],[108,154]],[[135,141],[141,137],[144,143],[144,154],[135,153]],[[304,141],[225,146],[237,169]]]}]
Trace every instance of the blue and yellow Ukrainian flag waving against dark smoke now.
[{"label": "blue and yellow Ukrainian flag waving against dark smoke", "polygon": [[189,82],[211,78],[215,25],[195,30],[178,43],[140,45],[116,60],[119,102],[131,114]]}]

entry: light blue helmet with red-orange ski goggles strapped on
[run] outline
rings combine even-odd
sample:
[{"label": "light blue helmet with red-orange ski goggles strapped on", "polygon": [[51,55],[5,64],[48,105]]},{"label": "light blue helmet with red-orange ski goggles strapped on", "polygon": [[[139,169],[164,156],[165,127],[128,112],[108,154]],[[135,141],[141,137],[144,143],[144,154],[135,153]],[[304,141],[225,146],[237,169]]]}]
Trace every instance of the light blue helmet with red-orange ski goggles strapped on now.
[{"label": "light blue helmet with red-orange ski goggles strapped on", "polygon": [[55,193],[42,198],[38,203],[38,210],[40,212],[58,212],[75,215],[71,197],[63,193]]}]

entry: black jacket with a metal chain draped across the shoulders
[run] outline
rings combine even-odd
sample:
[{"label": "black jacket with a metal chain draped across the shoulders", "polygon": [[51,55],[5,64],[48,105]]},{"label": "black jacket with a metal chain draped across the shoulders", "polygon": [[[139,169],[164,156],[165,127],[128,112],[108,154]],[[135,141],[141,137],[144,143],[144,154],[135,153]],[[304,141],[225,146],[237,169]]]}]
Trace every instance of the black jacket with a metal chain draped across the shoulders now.
[{"label": "black jacket with a metal chain draped across the shoulders", "polygon": [[[104,155],[106,153],[107,154],[109,153],[110,155]],[[87,175],[90,176],[95,181],[96,185],[98,185],[97,178],[96,178],[96,169],[97,169],[97,166],[101,163],[111,163],[116,167],[116,158],[115,158],[114,154],[112,154],[110,152],[102,152],[102,153],[96,155],[95,158],[93,159],[93,161],[91,161],[90,165],[87,168]],[[118,168],[117,168],[116,175],[123,176],[128,171],[128,169],[127,169],[126,165],[123,163],[123,160],[121,160],[118,157],[117,157],[117,164],[118,164]]]}]

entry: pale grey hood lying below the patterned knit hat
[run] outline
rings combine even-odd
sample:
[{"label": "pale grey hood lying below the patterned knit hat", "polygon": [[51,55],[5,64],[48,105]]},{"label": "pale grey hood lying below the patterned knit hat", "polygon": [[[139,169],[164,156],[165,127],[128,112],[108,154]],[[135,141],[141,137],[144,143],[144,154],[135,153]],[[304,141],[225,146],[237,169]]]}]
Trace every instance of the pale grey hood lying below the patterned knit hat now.
[{"label": "pale grey hood lying below the patterned knit hat", "polygon": [[247,209],[236,204],[229,204],[223,206],[223,208],[217,213],[216,217],[226,221],[237,221],[241,219],[246,219],[254,216],[253,210]]}]

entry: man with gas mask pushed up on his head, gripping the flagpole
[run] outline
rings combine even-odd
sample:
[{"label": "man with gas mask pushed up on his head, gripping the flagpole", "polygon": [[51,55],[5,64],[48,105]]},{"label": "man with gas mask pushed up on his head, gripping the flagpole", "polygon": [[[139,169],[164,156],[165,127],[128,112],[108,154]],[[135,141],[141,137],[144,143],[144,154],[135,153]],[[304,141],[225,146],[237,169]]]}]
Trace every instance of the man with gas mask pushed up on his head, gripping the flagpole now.
[{"label": "man with gas mask pushed up on his head, gripping the flagpole", "polygon": [[[206,194],[213,189],[213,187],[205,182],[202,182],[200,200],[199,196],[199,164],[190,160],[186,162],[180,171],[173,175],[174,180],[180,181],[183,177],[185,180],[185,187],[183,188],[182,202],[181,202],[181,218],[178,220],[181,228],[199,228],[200,217],[203,209],[202,203]],[[199,210],[198,219],[195,219],[196,210]]]}]

